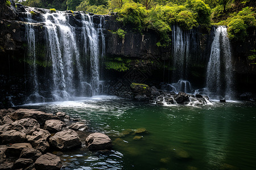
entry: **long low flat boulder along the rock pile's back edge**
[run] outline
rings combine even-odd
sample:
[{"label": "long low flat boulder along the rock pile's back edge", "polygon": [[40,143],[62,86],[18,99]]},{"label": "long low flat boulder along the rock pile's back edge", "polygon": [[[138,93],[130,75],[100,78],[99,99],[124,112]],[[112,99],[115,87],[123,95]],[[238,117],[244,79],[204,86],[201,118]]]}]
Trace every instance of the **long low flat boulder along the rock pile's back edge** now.
[{"label": "long low flat boulder along the rock pile's back edge", "polygon": [[18,109],[10,114],[12,120],[20,120],[22,118],[34,118],[40,126],[44,126],[44,122],[51,119],[57,119],[52,113],[44,113],[35,109]]}]

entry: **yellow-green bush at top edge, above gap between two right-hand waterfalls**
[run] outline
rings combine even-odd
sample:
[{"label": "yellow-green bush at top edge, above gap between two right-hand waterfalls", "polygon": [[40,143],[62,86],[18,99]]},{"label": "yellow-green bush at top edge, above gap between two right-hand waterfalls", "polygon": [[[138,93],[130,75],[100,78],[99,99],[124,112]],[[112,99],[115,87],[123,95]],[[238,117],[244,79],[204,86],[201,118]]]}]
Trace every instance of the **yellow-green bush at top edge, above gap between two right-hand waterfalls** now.
[{"label": "yellow-green bush at top edge, above gap between two right-hand waterfalls", "polygon": [[210,7],[201,0],[188,0],[187,7],[196,12],[197,23],[204,27],[210,25]]}]

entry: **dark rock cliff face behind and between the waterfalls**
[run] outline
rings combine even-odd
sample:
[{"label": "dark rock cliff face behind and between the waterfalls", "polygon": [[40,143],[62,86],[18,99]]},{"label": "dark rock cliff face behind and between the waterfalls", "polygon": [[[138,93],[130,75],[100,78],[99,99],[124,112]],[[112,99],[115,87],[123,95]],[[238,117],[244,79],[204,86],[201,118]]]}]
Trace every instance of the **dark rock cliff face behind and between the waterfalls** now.
[{"label": "dark rock cliff face behind and between the waterfalls", "polygon": [[[34,11],[32,19],[36,22],[30,24],[34,27],[35,44],[40,49],[37,55],[43,56],[46,53],[45,44],[48,41],[42,14],[49,10],[15,5],[13,0],[10,1],[11,6],[7,6],[5,2],[0,0],[0,98],[2,101],[0,108],[10,103],[22,104],[26,96],[30,94],[28,63],[24,59],[27,53],[27,11]],[[75,28],[77,36],[81,36],[79,35],[82,25],[81,13],[65,11],[67,22]],[[125,80],[121,80],[121,84],[139,82],[155,85],[159,82],[171,82],[171,72],[175,70],[171,44],[166,47],[157,46],[159,36],[155,31],[136,32],[129,28],[129,25],[125,26],[117,22],[115,15],[93,15],[95,27],[99,27],[102,19],[105,28],[105,57],[102,61],[101,72],[106,82],[114,80],[118,84],[119,79]],[[117,35],[118,29],[127,32],[124,38]],[[188,37],[190,56],[187,61],[188,66],[183,66],[188,70],[185,74],[194,86],[204,87],[214,31],[212,29],[208,33],[200,28],[194,28],[184,34]],[[255,40],[255,30],[251,30],[245,42],[232,43],[234,61],[232,64],[236,72],[238,91],[242,91],[243,87],[250,91],[254,90],[255,64],[249,61],[247,56],[252,54],[251,50],[256,49]],[[46,69],[42,68],[42,70]],[[15,100],[13,100],[14,96]]]}]

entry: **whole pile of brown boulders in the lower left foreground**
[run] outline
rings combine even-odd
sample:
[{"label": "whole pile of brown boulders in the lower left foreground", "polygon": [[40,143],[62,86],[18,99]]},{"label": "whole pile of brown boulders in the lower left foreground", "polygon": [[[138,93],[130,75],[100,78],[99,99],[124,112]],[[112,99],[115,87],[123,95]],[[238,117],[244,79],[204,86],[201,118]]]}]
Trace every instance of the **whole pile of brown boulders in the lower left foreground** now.
[{"label": "whole pile of brown boulders in the lower left foreground", "polygon": [[53,150],[71,150],[82,143],[89,150],[112,147],[111,139],[102,133],[81,141],[80,135],[88,135],[88,127],[69,120],[62,112],[0,110],[0,169],[60,169],[63,164],[59,156],[51,154]]}]

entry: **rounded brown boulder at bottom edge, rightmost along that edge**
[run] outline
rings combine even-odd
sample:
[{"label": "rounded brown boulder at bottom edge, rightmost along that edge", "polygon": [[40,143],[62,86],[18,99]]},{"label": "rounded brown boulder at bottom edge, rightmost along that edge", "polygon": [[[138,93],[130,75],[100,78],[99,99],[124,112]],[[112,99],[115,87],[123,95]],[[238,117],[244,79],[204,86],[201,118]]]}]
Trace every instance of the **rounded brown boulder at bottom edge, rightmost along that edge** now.
[{"label": "rounded brown boulder at bottom edge, rightmost along that edge", "polygon": [[36,170],[55,170],[62,167],[59,156],[47,153],[36,159],[35,169]]}]

